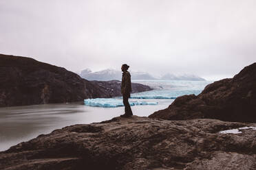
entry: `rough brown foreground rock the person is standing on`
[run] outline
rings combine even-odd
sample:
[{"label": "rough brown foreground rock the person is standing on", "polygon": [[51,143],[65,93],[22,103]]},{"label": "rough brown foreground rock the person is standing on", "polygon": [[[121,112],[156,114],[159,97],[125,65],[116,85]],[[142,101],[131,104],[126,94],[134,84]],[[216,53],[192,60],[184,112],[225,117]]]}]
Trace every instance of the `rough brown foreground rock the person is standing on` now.
[{"label": "rough brown foreground rock the person is standing on", "polygon": [[218,133],[245,125],[136,116],[72,125],[0,152],[0,169],[253,169],[256,130]]}]

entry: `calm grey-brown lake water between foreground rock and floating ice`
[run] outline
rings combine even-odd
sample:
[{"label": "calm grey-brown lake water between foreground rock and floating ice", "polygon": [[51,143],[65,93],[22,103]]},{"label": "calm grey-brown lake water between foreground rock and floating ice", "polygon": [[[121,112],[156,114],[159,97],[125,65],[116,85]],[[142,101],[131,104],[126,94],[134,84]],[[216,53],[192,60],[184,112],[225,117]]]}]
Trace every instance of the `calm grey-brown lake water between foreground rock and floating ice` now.
[{"label": "calm grey-brown lake water between foreground rock and floating ice", "polygon": [[[173,100],[157,101],[156,106],[132,106],[131,109],[134,114],[147,117],[157,110],[167,108]],[[0,151],[67,125],[105,121],[123,113],[124,107],[96,108],[84,106],[83,103],[0,108]]]}]

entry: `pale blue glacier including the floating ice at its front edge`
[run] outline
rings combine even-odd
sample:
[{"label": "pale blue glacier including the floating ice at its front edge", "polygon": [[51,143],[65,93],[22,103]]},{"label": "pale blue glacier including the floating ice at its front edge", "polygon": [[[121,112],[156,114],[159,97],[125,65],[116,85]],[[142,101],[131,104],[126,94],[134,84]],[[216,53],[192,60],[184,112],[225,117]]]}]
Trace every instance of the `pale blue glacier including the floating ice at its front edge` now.
[{"label": "pale blue glacier including the floating ice at its front edge", "polygon": [[[157,105],[160,99],[176,99],[182,95],[199,95],[204,87],[211,81],[173,81],[173,80],[134,80],[132,82],[145,84],[153,88],[153,90],[142,93],[132,93],[130,97],[130,105]],[[137,99],[137,100],[136,100]],[[147,101],[142,101],[143,99]],[[152,100],[152,101],[150,101]],[[155,101],[153,101],[155,100]],[[109,99],[85,99],[86,106],[95,106],[103,108],[115,108],[124,106],[122,97],[114,97]]]}]

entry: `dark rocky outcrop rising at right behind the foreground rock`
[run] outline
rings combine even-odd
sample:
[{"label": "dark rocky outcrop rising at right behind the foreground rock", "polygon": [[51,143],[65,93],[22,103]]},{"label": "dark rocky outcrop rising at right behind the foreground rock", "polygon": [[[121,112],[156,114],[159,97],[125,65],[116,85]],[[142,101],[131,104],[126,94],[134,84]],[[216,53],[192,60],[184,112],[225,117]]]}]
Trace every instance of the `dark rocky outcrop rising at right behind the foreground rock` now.
[{"label": "dark rocky outcrop rising at right behind the foreground rock", "polygon": [[256,122],[256,63],[246,66],[232,79],[209,84],[198,96],[178,97],[168,108],[149,117]]}]

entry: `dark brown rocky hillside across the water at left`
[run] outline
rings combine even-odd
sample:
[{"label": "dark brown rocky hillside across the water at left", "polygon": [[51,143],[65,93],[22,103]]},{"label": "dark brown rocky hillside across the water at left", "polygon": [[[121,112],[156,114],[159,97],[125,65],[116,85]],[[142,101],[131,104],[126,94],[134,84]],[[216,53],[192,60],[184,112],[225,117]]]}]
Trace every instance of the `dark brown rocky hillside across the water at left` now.
[{"label": "dark brown rocky hillside across the water at left", "polygon": [[[107,84],[114,84],[110,92],[108,86],[102,86]],[[0,54],[0,107],[119,96],[119,86],[115,82],[89,82],[62,67],[32,58]],[[140,85],[137,89],[149,87]]]}]

